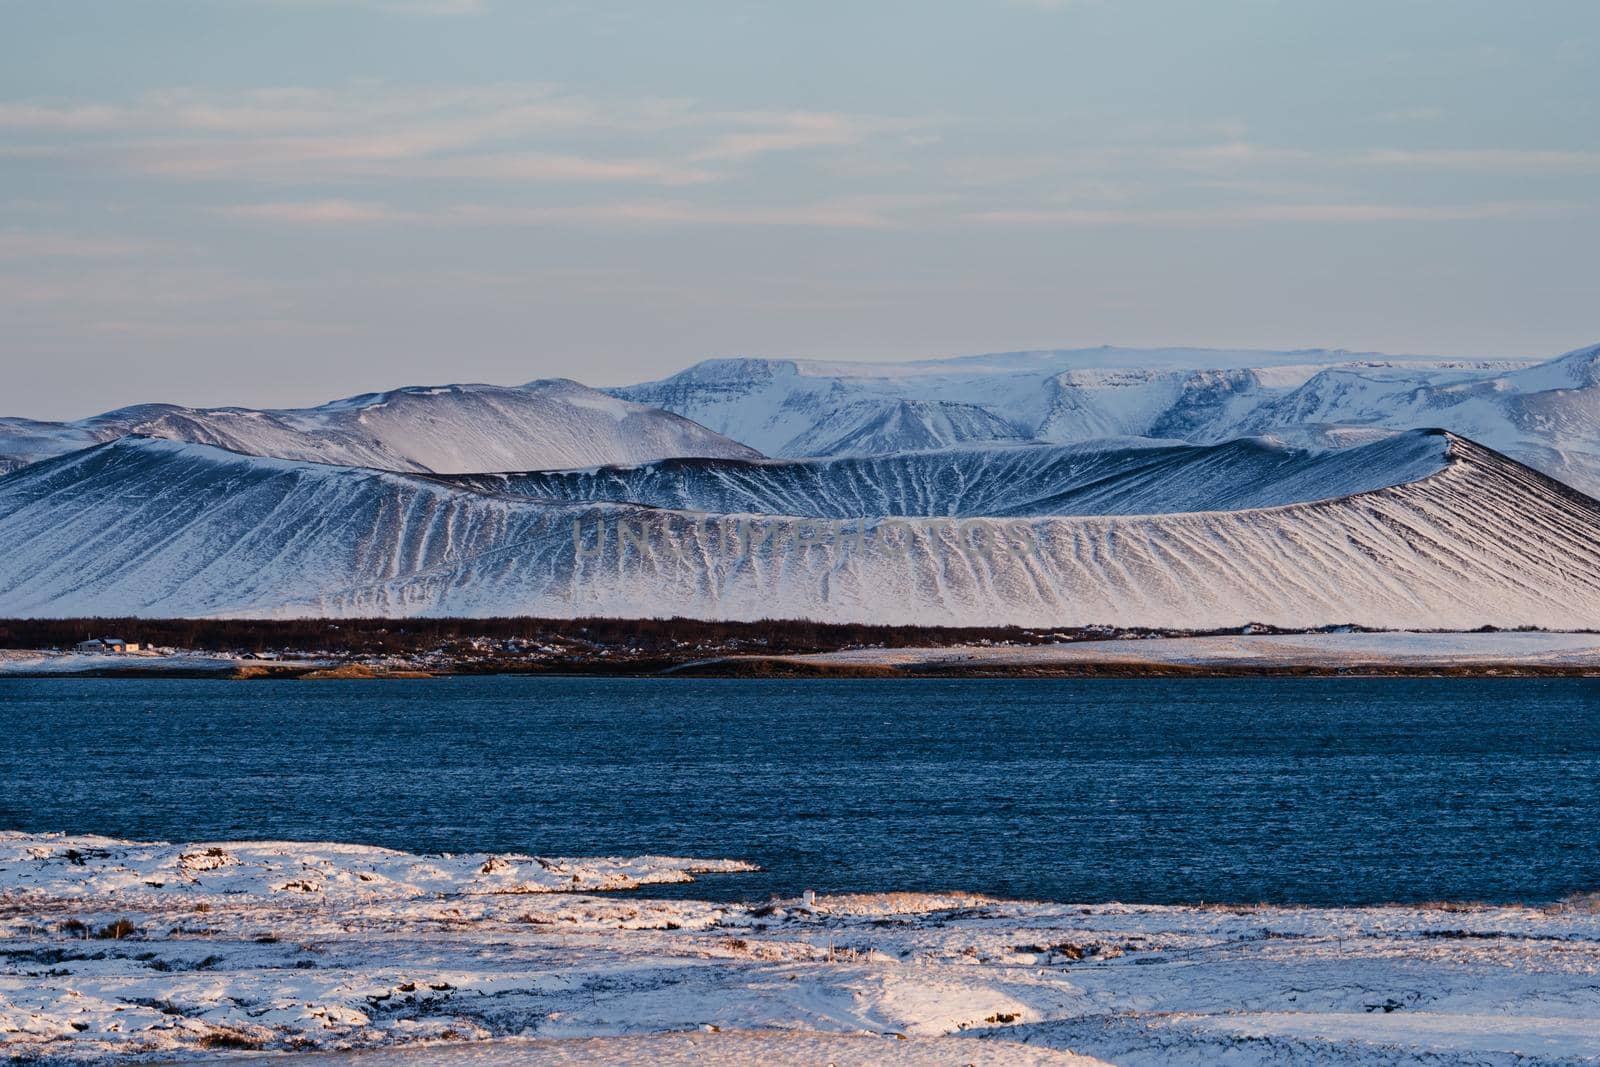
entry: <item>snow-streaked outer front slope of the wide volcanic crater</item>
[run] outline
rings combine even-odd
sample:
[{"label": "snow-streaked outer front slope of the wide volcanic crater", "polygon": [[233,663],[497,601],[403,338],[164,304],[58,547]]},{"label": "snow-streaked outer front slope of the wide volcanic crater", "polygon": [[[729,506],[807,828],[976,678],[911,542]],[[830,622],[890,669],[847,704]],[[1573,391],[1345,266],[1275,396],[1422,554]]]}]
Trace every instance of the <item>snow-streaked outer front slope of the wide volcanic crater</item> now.
[{"label": "snow-streaked outer front slope of the wide volcanic crater", "polygon": [[0,616],[1397,629],[1600,617],[1600,502],[1453,435],[1389,448],[1410,450],[1414,480],[1278,507],[840,530],[128,438],[0,478]]}]

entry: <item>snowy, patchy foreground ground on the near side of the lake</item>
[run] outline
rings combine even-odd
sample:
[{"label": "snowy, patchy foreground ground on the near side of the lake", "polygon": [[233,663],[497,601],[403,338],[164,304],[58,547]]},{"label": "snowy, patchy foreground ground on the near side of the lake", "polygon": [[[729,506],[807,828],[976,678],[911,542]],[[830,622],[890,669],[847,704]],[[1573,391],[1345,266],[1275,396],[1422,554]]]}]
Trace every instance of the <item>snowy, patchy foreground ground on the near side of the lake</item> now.
[{"label": "snowy, patchy foreground ground on the near side of the lake", "polygon": [[5,833],[0,1054],[357,1049],[341,1059],[370,1067],[1048,1064],[1070,1062],[1066,1049],[1115,1064],[1600,1062],[1595,901],[874,894],[806,907],[592,894],[734,869]]}]

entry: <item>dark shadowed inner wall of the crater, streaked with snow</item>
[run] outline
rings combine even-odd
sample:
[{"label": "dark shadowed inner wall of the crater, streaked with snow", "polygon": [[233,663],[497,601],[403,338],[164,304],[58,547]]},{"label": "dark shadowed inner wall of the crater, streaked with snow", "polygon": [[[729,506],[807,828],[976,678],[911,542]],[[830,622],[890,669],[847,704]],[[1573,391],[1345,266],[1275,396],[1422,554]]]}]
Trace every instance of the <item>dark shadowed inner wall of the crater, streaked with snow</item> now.
[{"label": "dark shadowed inner wall of the crater, streaked with snow", "polygon": [[810,518],[1150,515],[1350,496],[1434,474],[1445,453],[1446,438],[1418,432],[1347,451],[1261,440],[1208,446],[1032,445],[840,459],[670,459],[627,469],[466,475],[453,482],[562,502],[616,501]]}]

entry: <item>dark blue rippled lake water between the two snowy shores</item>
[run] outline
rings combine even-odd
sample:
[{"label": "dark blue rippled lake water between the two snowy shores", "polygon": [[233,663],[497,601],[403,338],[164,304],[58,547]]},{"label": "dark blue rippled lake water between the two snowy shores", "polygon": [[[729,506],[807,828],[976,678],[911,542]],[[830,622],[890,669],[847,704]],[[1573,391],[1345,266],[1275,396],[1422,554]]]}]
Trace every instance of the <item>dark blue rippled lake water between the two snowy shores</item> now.
[{"label": "dark blue rippled lake water between the two snowy shores", "polygon": [[0,729],[6,829],[766,867],[683,891],[725,897],[1600,889],[1589,680],[0,680]]}]

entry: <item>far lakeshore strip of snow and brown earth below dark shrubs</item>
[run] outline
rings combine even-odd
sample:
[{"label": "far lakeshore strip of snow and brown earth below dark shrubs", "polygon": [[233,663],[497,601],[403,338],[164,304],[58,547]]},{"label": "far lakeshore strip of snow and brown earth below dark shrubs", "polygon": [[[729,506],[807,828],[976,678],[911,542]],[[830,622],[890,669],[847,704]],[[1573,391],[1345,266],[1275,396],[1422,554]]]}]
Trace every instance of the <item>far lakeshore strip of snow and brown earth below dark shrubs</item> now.
[{"label": "far lakeshore strip of snow and brown earth below dark shrubs", "polygon": [[518,654],[474,648],[408,656],[259,657],[165,649],[77,654],[0,649],[0,677],[394,680],[630,678],[1590,678],[1600,635],[1557,632],[1301,632],[1107,637],[1056,643],[842,646],[830,651],[618,656],[611,648]]}]

